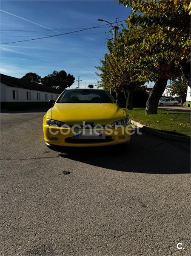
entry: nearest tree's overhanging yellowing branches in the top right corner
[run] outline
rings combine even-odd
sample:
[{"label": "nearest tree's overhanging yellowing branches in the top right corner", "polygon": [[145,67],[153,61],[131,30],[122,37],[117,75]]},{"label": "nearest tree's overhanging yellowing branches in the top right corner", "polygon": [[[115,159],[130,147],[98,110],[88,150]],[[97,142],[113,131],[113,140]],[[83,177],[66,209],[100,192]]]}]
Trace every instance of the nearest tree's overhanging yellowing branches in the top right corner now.
[{"label": "nearest tree's overhanging yellowing branches in the top right corner", "polygon": [[[191,85],[190,62],[190,14],[191,2],[188,0],[119,0],[121,4],[132,8],[128,21],[149,27],[157,25],[156,35],[165,35],[164,41],[171,43],[177,54],[182,76]],[[134,12],[140,13],[135,15]]]}]

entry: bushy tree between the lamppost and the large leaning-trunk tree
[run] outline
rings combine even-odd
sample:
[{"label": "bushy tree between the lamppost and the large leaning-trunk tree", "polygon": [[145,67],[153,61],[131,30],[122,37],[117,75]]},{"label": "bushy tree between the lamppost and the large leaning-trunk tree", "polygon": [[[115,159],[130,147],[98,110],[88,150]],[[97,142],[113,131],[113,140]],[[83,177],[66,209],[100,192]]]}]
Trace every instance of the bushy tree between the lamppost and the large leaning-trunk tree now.
[{"label": "bushy tree between the lamppost and the large leaning-trunk tree", "polygon": [[102,66],[96,67],[101,73],[96,73],[101,77],[101,86],[105,90],[115,92],[117,102],[125,97],[125,107],[133,108],[133,96],[136,87],[144,84],[138,77],[136,64],[132,63],[129,52],[126,50],[130,40],[128,31],[124,29],[119,37],[115,39],[114,46],[108,42],[109,54],[105,54],[105,59],[100,60]]}]

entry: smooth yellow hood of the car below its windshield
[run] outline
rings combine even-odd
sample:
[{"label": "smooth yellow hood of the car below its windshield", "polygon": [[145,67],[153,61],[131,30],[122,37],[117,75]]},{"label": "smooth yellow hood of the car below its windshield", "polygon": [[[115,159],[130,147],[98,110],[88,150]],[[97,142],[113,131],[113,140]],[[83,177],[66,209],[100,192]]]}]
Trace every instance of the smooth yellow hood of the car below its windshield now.
[{"label": "smooth yellow hood of the car below its windshield", "polygon": [[126,116],[115,103],[55,103],[51,108],[51,118],[68,125],[82,125],[83,121],[106,125]]}]

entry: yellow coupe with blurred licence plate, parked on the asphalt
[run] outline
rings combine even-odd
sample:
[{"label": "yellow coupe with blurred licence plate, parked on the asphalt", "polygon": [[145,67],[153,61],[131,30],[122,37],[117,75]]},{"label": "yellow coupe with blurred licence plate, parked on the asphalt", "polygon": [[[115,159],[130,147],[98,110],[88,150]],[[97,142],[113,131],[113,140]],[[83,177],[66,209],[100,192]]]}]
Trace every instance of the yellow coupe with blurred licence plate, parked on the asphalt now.
[{"label": "yellow coupe with blurred licence plate, parked on the asphalt", "polygon": [[92,147],[128,143],[131,121],[125,109],[102,89],[68,89],[43,118],[48,147]]}]

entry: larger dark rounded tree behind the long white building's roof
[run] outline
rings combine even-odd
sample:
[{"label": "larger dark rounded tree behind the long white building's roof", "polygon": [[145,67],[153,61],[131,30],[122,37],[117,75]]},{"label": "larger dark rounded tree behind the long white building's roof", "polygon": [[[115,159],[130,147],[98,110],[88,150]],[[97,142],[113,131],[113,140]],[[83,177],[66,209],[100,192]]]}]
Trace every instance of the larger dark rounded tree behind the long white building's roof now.
[{"label": "larger dark rounded tree behind the long white building's roof", "polygon": [[61,70],[60,72],[53,71],[48,76],[42,78],[42,84],[62,90],[70,87],[74,83],[74,81],[74,76],[72,76],[71,74],[67,75],[66,71],[64,70]]}]

